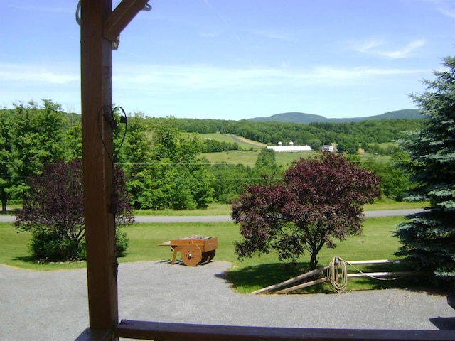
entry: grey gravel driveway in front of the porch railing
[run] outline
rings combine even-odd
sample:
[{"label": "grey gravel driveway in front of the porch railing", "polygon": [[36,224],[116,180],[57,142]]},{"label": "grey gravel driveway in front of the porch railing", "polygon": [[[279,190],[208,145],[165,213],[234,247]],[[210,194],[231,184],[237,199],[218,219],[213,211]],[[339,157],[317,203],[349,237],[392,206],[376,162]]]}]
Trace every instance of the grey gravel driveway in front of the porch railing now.
[{"label": "grey gravel driveway in front of the porch railing", "polygon": [[[119,265],[119,318],[304,328],[455,329],[445,296],[403,290],[242,295],[230,264]],[[75,340],[87,328],[85,269],[28,271],[0,266],[0,340]]]}]

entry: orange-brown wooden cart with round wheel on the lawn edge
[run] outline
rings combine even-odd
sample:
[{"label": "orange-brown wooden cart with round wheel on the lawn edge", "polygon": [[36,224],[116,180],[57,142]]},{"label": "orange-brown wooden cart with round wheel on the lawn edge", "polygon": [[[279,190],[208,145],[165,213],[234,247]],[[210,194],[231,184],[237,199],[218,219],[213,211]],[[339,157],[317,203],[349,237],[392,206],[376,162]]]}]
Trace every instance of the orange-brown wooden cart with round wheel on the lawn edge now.
[{"label": "orange-brown wooden cart with round wheel on the lawn edge", "polygon": [[171,247],[171,251],[173,251],[171,264],[175,264],[177,252],[180,251],[184,264],[196,266],[213,259],[218,248],[218,237],[191,236],[171,239],[159,245]]}]

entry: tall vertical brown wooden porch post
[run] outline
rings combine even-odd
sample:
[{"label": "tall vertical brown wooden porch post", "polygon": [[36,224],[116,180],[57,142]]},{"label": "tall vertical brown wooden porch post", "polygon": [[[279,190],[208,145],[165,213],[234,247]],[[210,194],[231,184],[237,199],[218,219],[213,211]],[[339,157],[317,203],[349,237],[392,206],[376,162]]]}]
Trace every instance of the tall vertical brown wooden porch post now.
[{"label": "tall vertical brown wooden porch post", "polygon": [[115,222],[108,210],[112,131],[102,117],[103,108],[112,107],[111,42],[103,37],[103,23],[111,11],[112,0],[81,1],[82,164],[91,330],[112,330],[118,323]]}]

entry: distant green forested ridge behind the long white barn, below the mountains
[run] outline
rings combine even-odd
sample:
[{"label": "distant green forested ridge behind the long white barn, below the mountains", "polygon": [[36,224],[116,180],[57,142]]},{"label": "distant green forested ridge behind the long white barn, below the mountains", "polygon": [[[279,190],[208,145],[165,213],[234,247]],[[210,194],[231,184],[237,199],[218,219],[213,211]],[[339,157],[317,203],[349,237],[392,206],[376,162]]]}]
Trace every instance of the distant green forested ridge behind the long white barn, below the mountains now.
[{"label": "distant green forested ridge behind the long white barn, below the mountains", "polygon": [[[166,120],[161,118],[151,121]],[[282,122],[256,122],[249,120],[229,121],[221,119],[176,119],[180,131],[200,134],[220,132],[235,134],[263,144],[276,145],[278,142],[294,145],[309,145],[313,149],[323,144],[337,144],[338,150],[357,153],[380,151],[379,144],[402,139],[406,131],[420,129],[422,119],[382,119],[349,123],[292,124]]]}]

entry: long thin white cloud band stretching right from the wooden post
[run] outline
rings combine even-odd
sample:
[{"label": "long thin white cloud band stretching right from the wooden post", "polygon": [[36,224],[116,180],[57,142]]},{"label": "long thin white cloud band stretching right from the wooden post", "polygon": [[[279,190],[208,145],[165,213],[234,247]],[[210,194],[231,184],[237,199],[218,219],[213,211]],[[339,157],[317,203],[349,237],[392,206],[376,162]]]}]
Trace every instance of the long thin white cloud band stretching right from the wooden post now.
[{"label": "long thin white cloud band stretching right from the wooden post", "polygon": [[114,87],[157,92],[180,92],[198,90],[235,91],[255,90],[269,86],[334,85],[371,77],[426,74],[431,70],[332,67],[319,66],[311,69],[291,68],[244,68],[232,69],[206,65],[142,65],[132,70],[131,66],[114,67]]}]

